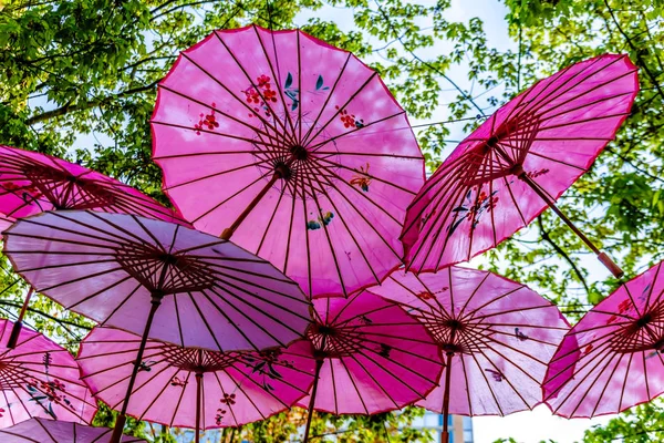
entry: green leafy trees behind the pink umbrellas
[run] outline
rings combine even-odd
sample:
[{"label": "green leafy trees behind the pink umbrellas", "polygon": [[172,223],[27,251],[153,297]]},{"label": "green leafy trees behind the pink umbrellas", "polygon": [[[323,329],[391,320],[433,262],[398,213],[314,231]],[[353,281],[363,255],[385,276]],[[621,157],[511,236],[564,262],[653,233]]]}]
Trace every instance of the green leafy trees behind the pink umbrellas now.
[{"label": "green leafy trees behind the pink umbrellas", "polygon": [[[498,1],[498,0],[496,0]],[[149,117],[156,84],[179,51],[215,29],[257,23],[301,28],[354,52],[375,68],[417,121],[433,171],[454,146],[454,125],[468,133],[484,115],[536,79],[602,53],[629,53],[640,68],[641,93],[618,138],[560,199],[582,230],[634,276],[662,258],[664,245],[664,2],[661,0],[504,0],[511,49],[497,49],[484,23],[448,20],[450,0],[9,0],[0,1],[0,143],[77,161],[167,204],[160,171],[151,161]],[[331,12],[352,18],[346,29]],[[438,48],[449,48],[442,52]],[[463,69],[467,82],[453,75]],[[465,84],[474,85],[473,89]],[[456,99],[443,102],[443,92]],[[479,91],[479,92],[478,92]],[[90,141],[94,141],[90,143]],[[584,245],[550,212],[499,248],[488,265],[533,285],[578,318],[619,281],[598,271]],[[3,258],[0,313],[12,318],[25,285]],[[92,323],[38,297],[29,323],[70,349]],[[661,403],[641,406],[588,442],[664,429]],[[416,441],[407,429],[415,409],[374,418],[317,420],[313,433],[341,442]],[[656,418],[656,419],[653,419]],[[297,411],[247,426],[256,441],[286,441],[301,423]],[[102,410],[97,424],[111,424]],[[165,442],[160,429],[134,431]],[[387,431],[386,431],[387,430]],[[641,433],[640,433],[641,432]],[[631,434],[630,434],[631,435]],[[652,436],[652,434],[651,434]],[[228,441],[230,432],[218,435]],[[166,439],[166,440],[165,440]]]}]

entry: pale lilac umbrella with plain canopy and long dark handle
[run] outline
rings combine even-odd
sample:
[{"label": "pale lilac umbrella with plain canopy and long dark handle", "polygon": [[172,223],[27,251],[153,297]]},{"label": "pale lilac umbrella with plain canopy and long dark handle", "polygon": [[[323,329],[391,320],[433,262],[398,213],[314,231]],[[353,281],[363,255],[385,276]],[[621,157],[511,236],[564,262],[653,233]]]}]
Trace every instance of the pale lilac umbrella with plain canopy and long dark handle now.
[{"label": "pale lilac umbrella with plain canopy and long dark handle", "polygon": [[302,338],[311,321],[298,285],[269,262],[167,222],[42,213],[4,231],[4,254],[35,290],[66,309],[142,334],[138,361],[148,337],[219,351],[262,350]]}]

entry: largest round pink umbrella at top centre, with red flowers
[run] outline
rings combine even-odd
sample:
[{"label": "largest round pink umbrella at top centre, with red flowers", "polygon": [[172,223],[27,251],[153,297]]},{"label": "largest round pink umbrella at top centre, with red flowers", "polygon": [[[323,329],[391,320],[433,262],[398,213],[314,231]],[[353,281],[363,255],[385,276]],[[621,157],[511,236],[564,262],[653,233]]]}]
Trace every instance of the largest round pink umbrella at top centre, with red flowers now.
[{"label": "largest round pink umbrella at top centre, with red flowers", "polygon": [[353,54],[299,30],[216,31],[162,81],[152,127],[185,217],[309,296],[347,296],[401,265],[424,161],[405,111]]}]

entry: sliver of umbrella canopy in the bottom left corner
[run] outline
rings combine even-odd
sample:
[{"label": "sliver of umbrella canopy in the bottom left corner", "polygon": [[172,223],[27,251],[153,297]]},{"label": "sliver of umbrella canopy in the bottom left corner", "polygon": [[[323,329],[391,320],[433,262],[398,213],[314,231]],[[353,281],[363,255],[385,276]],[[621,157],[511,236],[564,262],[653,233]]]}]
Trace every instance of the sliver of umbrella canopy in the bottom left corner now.
[{"label": "sliver of umbrella canopy in the bottom left corner", "polygon": [[[77,423],[31,419],[0,430],[2,443],[108,443],[113,430],[84,426]],[[125,435],[124,443],[146,443],[145,440]]]}]

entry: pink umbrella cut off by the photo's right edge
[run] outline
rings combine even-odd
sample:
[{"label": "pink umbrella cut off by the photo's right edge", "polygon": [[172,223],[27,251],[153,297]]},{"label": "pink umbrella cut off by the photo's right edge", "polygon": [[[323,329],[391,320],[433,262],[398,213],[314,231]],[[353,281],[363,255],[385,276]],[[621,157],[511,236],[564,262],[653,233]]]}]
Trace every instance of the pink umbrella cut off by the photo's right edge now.
[{"label": "pink umbrella cut off by the photo's right edge", "polygon": [[622,285],[572,328],[543,384],[554,414],[616,414],[664,392],[662,262]]}]

